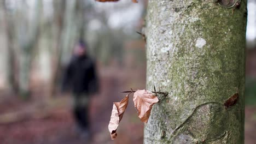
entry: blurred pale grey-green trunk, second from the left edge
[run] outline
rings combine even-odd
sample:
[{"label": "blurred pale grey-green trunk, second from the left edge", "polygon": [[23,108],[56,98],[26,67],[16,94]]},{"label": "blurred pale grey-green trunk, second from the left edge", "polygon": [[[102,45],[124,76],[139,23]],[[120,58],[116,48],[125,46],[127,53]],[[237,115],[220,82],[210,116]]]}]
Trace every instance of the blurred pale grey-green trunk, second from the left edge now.
[{"label": "blurred pale grey-green trunk, second from the left edge", "polygon": [[[37,0],[35,5],[33,20],[27,23],[26,21],[21,22],[21,33],[20,33],[20,59],[19,59],[19,93],[21,98],[27,99],[30,96],[30,75],[31,75],[31,63],[32,54],[35,49],[38,38],[39,38],[39,25],[40,15],[42,13],[42,0]],[[22,14],[27,13],[26,10],[21,10]],[[25,32],[27,29],[28,32]]]}]

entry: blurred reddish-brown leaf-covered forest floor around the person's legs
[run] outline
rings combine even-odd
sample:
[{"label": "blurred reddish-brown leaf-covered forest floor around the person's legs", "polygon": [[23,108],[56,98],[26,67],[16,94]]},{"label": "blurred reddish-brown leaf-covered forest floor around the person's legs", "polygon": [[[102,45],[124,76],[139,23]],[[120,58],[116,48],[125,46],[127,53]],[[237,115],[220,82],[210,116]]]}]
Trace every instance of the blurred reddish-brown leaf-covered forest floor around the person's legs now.
[{"label": "blurred reddish-brown leaf-covered forest floor around the person's legs", "polygon": [[[143,68],[144,69],[144,68]],[[118,137],[111,140],[108,122],[113,101],[120,101],[125,94],[120,92],[143,89],[145,71],[104,69],[101,70],[101,92],[91,99],[91,141],[82,139],[77,131],[71,113],[71,97],[57,95],[45,98],[38,88],[29,101],[17,99],[7,93],[0,95],[0,143],[1,144],[82,144],[82,143],[143,143],[143,123],[136,110],[129,104],[118,127]],[[113,73],[115,71],[115,73]],[[133,75],[131,75],[133,74]],[[131,99],[130,99],[131,100]],[[256,143],[256,106],[246,107],[246,144]]]}]

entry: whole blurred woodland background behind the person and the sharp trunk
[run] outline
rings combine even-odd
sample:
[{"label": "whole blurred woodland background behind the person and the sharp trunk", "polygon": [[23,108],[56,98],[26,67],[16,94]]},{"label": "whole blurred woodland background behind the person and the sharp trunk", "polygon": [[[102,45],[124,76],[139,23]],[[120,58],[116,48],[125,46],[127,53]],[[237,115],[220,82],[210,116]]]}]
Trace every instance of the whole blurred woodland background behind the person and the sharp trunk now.
[{"label": "whole blurred woodland background behind the person and the sharp trunk", "polygon": [[[96,59],[101,92],[91,101],[92,143],[142,143],[143,123],[128,106],[110,140],[120,92],[146,85],[143,31],[147,0],[0,0],[0,143],[84,143],[73,131],[62,71],[84,39]],[[157,88],[158,89],[158,88]],[[130,108],[129,108],[130,107]],[[248,1],[246,143],[256,143],[256,1]],[[132,133],[131,133],[132,131]]]}]

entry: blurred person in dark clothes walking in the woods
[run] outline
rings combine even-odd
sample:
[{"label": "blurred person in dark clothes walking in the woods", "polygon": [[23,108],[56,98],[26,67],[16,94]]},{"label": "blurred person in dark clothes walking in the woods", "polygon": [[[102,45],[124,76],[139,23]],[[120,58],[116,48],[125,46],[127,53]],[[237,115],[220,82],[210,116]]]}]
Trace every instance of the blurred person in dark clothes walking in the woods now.
[{"label": "blurred person in dark clothes walking in the woods", "polygon": [[74,47],[71,61],[68,63],[62,82],[62,91],[72,90],[72,111],[77,130],[81,136],[91,135],[89,121],[89,104],[92,94],[98,92],[98,79],[95,63],[88,55],[88,46],[80,40]]}]

